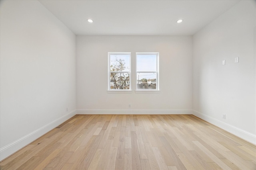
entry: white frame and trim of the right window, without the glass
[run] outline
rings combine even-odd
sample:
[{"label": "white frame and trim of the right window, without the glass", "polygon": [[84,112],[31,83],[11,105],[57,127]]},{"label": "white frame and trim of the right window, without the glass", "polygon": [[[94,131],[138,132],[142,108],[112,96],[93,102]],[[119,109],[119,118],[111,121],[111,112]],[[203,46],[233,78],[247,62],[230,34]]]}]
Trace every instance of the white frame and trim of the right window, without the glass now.
[{"label": "white frame and trim of the right window, without the glass", "polygon": [[[143,73],[143,72],[154,72],[154,71],[137,71],[137,55],[156,55],[156,89],[147,89],[147,90],[143,90],[143,89],[137,89],[136,86],[136,93],[140,93],[140,92],[159,92],[159,52],[137,52],[136,53],[136,75],[137,73]],[[136,78],[137,79],[137,78]],[[136,80],[137,83],[137,80]]]}]

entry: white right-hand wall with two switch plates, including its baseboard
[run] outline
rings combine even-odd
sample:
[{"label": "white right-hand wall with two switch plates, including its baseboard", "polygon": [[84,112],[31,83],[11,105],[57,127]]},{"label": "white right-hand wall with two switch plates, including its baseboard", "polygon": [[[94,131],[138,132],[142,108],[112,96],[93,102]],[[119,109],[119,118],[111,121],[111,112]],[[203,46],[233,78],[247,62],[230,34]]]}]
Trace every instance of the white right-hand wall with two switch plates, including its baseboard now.
[{"label": "white right-hand wall with two switch plates, including its baseboard", "polygon": [[255,19],[255,1],[241,1],[193,36],[194,114],[254,144]]}]

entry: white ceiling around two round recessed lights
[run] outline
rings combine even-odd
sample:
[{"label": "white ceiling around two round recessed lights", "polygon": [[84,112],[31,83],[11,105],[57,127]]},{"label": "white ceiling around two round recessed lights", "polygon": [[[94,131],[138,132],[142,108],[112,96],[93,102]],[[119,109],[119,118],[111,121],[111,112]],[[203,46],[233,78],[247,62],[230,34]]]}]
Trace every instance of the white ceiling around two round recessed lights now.
[{"label": "white ceiling around two round recessed lights", "polygon": [[239,1],[39,0],[76,35],[193,35]]}]

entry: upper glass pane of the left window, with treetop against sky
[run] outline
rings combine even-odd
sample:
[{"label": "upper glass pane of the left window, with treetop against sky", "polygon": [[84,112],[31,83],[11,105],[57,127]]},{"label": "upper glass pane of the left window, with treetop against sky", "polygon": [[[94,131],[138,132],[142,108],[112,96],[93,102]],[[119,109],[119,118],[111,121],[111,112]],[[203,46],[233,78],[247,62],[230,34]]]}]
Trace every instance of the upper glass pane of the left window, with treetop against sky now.
[{"label": "upper glass pane of the left window, with treetop against sky", "polygon": [[110,71],[130,71],[130,55],[110,55]]}]

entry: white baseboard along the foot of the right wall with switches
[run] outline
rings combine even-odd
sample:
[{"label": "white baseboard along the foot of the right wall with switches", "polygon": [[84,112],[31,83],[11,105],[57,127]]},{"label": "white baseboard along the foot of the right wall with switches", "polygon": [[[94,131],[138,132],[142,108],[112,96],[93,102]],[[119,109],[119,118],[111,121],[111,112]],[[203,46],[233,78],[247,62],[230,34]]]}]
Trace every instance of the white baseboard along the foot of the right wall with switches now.
[{"label": "white baseboard along the foot of the right wall with switches", "polygon": [[224,129],[225,131],[228,131],[229,133],[232,133],[233,135],[236,135],[236,136],[256,145],[256,135],[254,135],[252,133],[249,133],[247,131],[239,129],[238,127],[235,127],[233,125],[230,125],[228,123],[225,123],[223,121],[215,119],[208,115],[204,115],[203,113],[200,113],[195,110],[193,110],[193,115],[195,115],[196,117],[199,117],[209,123],[212,123],[213,125],[216,125],[222,129]]}]

